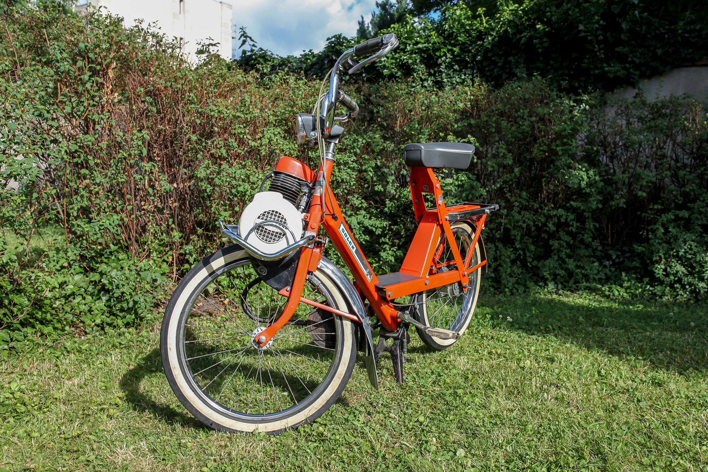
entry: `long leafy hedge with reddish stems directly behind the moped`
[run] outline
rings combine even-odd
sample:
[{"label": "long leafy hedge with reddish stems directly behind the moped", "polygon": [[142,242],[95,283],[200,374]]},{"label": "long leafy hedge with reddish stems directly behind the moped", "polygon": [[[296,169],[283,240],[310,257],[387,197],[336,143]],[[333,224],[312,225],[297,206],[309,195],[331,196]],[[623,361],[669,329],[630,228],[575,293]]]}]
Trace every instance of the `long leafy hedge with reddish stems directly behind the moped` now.
[{"label": "long leafy hedge with reddish stems directly behind the moped", "polygon": [[[4,20],[0,329],[12,342],[21,328],[146,316],[223,246],[217,219],[235,221],[280,156],[307,158],[292,120],[312,109],[319,83],[280,74],[263,84],[211,54],[193,67],[159,31],[96,12]],[[415,231],[402,146],[476,139],[471,168],[441,177],[449,202],[501,205],[485,231],[488,289],[705,296],[702,105],[608,104],[539,79],[416,84],[346,85],[362,117],[332,183],[377,272],[397,269]]]}]

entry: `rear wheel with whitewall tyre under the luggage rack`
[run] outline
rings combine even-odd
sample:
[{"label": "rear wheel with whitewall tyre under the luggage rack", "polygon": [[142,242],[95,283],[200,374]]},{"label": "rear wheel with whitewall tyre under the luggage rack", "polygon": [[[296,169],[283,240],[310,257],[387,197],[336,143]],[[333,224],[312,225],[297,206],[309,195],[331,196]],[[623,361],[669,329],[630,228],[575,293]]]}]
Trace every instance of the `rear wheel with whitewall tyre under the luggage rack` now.
[{"label": "rear wheel with whitewall tyre under the luggage rack", "polygon": [[[467,258],[467,252],[470,251],[472,240],[474,239],[474,226],[467,221],[457,221],[452,224],[452,234],[455,236],[455,242],[462,259]],[[479,264],[479,241],[474,247],[474,253],[469,261],[469,267],[474,267]],[[452,248],[447,241],[445,234],[440,235],[440,241],[435,251],[433,263],[428,269],[428,275],[437,274],[439,272],[447,272],[448,270],[457,270],[455,257],[452,255]],[[477,304],[479,297],[479,282],[481,281],[481,267],[469,276],[469,287],[467,290],[462,289],[460,282],[444,285],[437,289],[426,290],[413,295],[411,303],[417,304],[416,318],[425,326],[431,328],[443,328],[446,330],[457,331],[460,335],[467,330],[469,321],[472,320],[472,313]],[[454,339],[440,339],[428,335],[425,331],[416,327],[418,336],[421,337],[424,343],[433,349],[447,349],[447,347],[455,344]]]}]

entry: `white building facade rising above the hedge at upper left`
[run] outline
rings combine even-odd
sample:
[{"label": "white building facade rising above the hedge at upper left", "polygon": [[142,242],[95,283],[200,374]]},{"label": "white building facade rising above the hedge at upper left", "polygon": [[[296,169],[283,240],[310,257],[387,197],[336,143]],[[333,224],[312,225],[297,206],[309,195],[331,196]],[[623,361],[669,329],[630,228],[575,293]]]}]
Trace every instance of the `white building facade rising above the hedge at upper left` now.
[{"label": "white building facade rising above the hedge at upper left", "polygon": [[[218,52],[231,59],[231,4],[217,0],[79,0],[76,11],[91,4],[122,16],[126,27],[142,19],[157,23],[168,38],[178,38],[188,59],[195,60],[197,42],[218,42]],[[208,38],[212,38],[209,40]]]}]

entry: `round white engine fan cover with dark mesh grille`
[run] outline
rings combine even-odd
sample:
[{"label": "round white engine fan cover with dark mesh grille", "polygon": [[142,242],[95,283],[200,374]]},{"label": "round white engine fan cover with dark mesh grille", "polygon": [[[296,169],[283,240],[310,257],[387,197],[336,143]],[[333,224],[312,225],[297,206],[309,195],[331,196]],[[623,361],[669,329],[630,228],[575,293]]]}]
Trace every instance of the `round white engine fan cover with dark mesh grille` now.
[{"label": "round white engine fan cover with dark mesh grille", "polygon": [[[256,193],[253,202],[249,203],[241,213],[239,236],[246,239],[246,234],[249,234],[253,226],[266,220],[285,224],[295,235],[295,241],[302,239],[304,234],[302,213],[298,212],[295,205],[285,200],[279,192]],[[290,233],[286,234],[281,226],[268,223],[258,226],[246,241],[264,253],[275,253],[295,243]]]}]

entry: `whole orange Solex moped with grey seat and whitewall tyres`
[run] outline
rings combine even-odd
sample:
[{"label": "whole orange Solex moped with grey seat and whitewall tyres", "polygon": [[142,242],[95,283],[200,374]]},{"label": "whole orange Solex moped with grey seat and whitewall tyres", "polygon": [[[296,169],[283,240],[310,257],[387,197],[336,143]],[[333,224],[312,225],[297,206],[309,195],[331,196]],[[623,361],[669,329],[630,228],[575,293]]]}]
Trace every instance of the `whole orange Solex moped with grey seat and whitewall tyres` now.
[{"label": "whole orange Solex moped with grey seat and whitewall tyres", "polygon": [[[280,158],[239,224],[219,221],[234,244],[198,263],[173,292],[162,323],[162,362],[176,396],[205,425],[273,434],[311,422],[346,387],[358,352],[378,388],[376,362],[384,351],[396,381],[404,381],[409,327],[442,350],[469,326],[487,268],[481,230],[498,206],[445,205],[433,169],[467,168],[474,146],[405,146],[418,229],[392,274],[374,273],[329,185],[336,144],[359,111],[339,88],[340,74],[398,44],[388,34],[342,54],[328,74],[329,91],[322,93],[326,78],[313,113],[296,120],[298,142],[319,147],[317,171]],[[345,115],[335,115],[338,105]],[[322,255],[328,243],[353,282]]]}]

